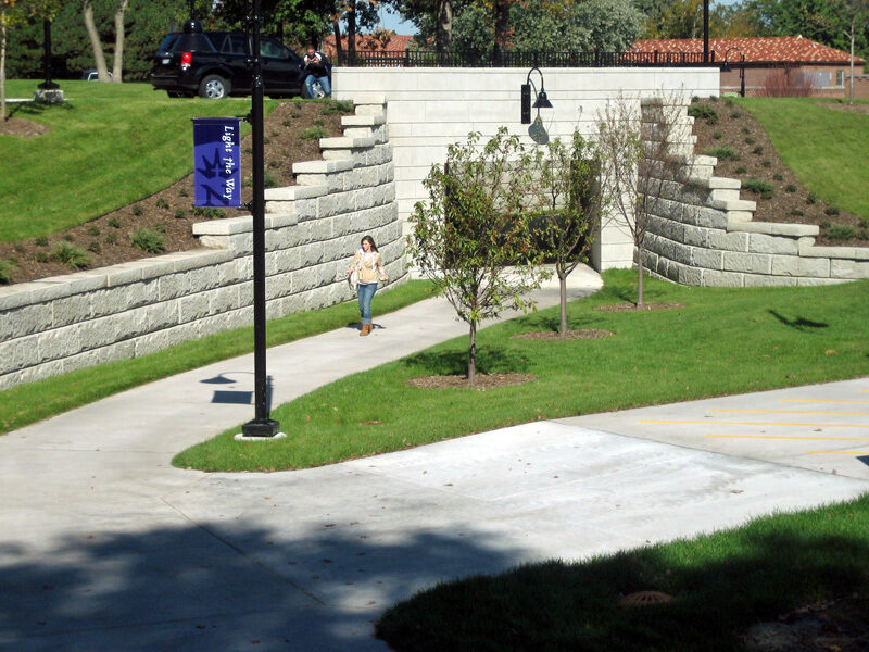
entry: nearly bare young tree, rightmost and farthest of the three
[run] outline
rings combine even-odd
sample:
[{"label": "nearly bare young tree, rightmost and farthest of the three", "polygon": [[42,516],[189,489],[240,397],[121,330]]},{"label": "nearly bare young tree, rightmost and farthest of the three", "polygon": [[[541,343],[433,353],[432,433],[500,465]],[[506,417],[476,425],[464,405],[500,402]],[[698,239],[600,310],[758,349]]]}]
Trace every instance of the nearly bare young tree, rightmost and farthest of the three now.
[{"label": "nearly bare young tree, rightmost and farthest of the three", "polygon": [[645,236],[659,214],[668,185],[688,174],[678,152],[683,101],[678,93],[643,100],[619,96],[607,101],[597,120],[601,185],[612,198],[612,217],[625,226],[637,248],[637,306],[642,308]]}]

